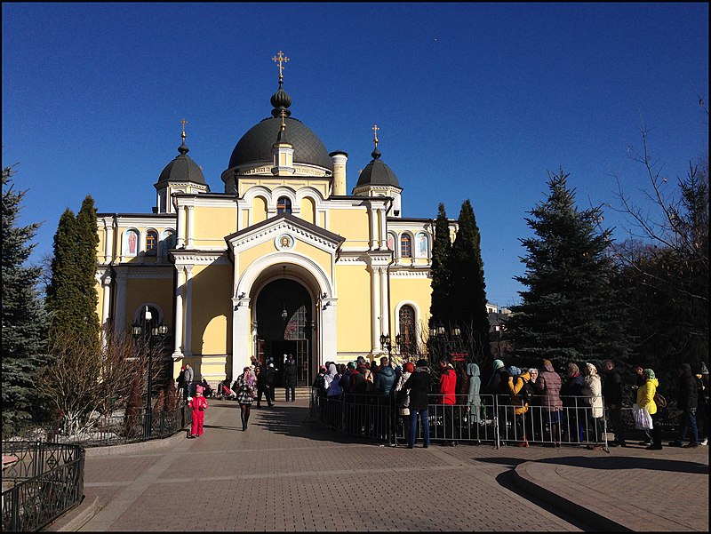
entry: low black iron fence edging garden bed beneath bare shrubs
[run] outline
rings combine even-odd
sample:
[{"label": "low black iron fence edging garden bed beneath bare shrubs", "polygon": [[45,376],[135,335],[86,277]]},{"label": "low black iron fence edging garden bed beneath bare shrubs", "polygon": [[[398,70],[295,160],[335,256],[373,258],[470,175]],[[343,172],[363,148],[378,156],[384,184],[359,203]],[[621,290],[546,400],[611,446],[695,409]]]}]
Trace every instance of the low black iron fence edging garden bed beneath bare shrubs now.
[{"label": "low black iron fence edging garden bed beneath bare shrubs", "polygon": [[163,439],[192,423],[192,410],[179,406],[174,410],[154,411],[146,418],[143,409],[132,413],[116,410],[107,415],[78,421],[60,419],[25,426],[3,436],[8,441],[72,443],[84,447],[103,447],[124,443]]}]

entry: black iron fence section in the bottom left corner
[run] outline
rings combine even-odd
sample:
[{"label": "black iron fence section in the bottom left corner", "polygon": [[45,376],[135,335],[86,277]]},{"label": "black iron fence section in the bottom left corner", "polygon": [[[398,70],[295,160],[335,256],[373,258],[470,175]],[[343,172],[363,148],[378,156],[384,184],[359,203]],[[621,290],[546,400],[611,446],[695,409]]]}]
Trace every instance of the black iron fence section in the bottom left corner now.
[{"label": "black iron fence section in the bottom left corner", "polygon": [[3,442],[3,531],[36,531],[84,495],[84,449],[47,442]]}]

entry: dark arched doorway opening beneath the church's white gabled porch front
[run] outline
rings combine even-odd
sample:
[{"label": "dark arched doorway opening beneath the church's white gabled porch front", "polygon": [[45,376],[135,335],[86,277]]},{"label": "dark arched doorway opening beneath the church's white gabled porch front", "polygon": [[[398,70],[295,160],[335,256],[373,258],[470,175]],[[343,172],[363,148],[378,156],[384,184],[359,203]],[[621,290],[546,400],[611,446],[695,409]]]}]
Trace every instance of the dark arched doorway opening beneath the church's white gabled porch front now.
[{"label": "dark arched doorway opening beneath the church's white gabled porch front", "polygon": [[257,347],[260,363],[274,358],[278,384],[283,382],[284,355],[294,355],[297,386],[310,386],[313,378],[313,304],[307,289],[286,278],[274,280],[257,297]]}]

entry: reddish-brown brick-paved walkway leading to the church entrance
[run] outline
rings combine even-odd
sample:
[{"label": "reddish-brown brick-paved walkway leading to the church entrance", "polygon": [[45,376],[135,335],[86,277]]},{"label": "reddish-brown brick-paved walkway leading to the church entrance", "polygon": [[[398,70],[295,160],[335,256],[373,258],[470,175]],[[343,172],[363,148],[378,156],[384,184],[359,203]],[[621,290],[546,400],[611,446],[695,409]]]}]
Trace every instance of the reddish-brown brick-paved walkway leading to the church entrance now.
[{"label": "reddish-brown brick-paved walkway leading to the church entrance", "polygon": [[[88,450],[84,502],[46,530],[707,530],[708,450],[408,450],[212,401],[205,434]],[[523,519],[522,519],[523,518]]]}]

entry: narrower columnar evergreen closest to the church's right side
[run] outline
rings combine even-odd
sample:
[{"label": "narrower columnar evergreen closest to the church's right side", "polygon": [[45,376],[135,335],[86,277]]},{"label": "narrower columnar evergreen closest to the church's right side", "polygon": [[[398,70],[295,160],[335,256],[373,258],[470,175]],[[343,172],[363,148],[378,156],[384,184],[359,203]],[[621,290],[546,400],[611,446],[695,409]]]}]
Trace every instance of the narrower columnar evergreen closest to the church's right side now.
[{"label": "narrower columnar evergreen closest to the church's right side", "polygon": [[439,204],[435,221],[435,241],[432,243],[432,303],[429,307],[430,331],[437,323],[450,323],[451,273],[450,273],[450,223],[444,204]]}]

